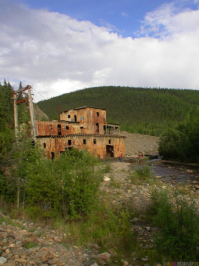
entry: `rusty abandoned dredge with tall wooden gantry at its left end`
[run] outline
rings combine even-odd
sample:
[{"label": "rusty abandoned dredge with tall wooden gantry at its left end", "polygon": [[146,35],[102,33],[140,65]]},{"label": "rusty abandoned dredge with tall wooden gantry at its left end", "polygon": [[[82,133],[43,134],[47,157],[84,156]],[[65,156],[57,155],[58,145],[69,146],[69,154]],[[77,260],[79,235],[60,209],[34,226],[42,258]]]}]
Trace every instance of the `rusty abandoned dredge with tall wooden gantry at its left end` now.
[{"label": "rusty abandoned dredge with tall wooden gantry at its left end", "polygon": [[36,121],[34,118],[31,86],[13,92],[15,131],[18,128],[17,101],[19,95],[28,90],[25,100],[29,103],[32,135],[45,149],[48,158],[53,159],[72,147],[87,149],[102,158],[124,155],[124,137],[113,135],[119,125],[106,123],[106,110],[90,106],[60,112],[59,120]]}]

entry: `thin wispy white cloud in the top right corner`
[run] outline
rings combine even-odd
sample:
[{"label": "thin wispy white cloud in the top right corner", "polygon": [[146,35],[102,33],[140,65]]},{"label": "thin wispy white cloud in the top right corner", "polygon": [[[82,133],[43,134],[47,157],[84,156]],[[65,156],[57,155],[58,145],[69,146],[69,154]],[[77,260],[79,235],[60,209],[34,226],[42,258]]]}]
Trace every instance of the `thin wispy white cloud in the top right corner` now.
[{"label": "thin wispy white cloud in the top right corner", "polygon": [[165,37],[175,33],[190,32],[198,29],[199,10],[188,8],[190,0],[175,0],[164,3],[145,15],[137,36]]}]

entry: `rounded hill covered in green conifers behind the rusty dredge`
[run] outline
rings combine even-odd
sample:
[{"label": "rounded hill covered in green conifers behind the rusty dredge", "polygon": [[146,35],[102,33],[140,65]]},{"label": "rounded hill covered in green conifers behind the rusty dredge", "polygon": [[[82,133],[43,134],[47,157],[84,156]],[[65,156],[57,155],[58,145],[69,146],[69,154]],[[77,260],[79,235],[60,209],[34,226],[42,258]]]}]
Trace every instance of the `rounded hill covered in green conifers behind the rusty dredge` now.
[{"label": "rounded hill covered in green conifers behind the rusty dredge", "polygon": [[58,119],[59,106],[64,111],[85,105],[105,108],[106,120],[120,124],[123,130],[158,136],[199,105],[199,91],[103,86],[38,102],[50,119]]}]

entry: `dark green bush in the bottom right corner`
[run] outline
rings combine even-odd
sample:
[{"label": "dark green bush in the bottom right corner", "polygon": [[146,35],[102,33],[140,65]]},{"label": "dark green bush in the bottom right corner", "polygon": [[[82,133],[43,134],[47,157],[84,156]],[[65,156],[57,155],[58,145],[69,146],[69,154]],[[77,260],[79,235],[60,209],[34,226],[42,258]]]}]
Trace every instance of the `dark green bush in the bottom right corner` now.
[{"label": "dark green bush in the bottom right corner", "polygon": [[161,229],[155,240],[159,254],[174,261],[199,260],[199,222],[195,202],[178,192],[172,199],[167,190],[155,189],[152,191],[152,210]]}]

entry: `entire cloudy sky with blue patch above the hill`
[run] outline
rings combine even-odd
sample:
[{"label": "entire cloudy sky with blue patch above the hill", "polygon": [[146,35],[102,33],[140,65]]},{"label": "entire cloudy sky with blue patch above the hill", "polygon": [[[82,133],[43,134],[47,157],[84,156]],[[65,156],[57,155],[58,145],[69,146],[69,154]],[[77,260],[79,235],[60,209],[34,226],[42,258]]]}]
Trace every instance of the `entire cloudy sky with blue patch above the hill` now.
[{"label": "entire cloudy sky with blue patch above the hill", "polygon": [[105,85],[199,89],[199,0],[0,0],[4,78],[35,101]]}]

